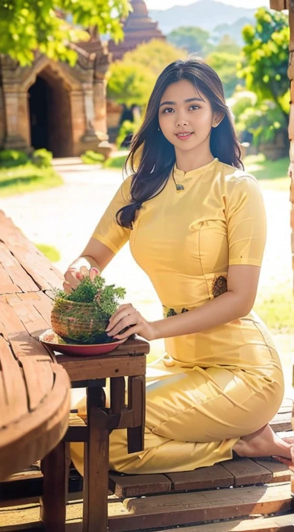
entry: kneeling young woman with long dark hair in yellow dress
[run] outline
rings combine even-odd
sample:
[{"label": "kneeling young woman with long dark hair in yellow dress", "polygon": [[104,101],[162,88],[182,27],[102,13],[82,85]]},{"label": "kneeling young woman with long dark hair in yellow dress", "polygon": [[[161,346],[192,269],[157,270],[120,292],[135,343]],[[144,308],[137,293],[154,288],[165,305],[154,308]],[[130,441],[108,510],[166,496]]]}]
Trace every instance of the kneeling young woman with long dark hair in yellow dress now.
[{"label": "kneeling young woman with long dark hair in yellow dress", "polygon": [[[279,357],[251,312],[266,240],[263,199],[243,171],[214,70],[194,59],[164,69],[128,161],[132,175],[64,276],[71,290],[130,240],[163,305],[159,321],[130,303],[110,319],[111,336],[137,333],[166,345],[148,367],[145,450],[128,454],[126,431],[112,432],[110,468],[193,470],[233,451],[291,459],[291,443],[268,425],[284,391]],[[71,450],[83,472],[83,444]]]}]

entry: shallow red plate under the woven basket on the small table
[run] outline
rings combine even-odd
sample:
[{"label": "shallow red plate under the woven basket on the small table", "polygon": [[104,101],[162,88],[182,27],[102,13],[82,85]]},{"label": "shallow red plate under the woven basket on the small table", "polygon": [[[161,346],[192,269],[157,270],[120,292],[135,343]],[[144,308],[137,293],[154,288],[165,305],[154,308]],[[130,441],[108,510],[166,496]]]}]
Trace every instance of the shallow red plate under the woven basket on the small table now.
[{"label": "shallow red plate under the woven basket on the small table", "polygon": [[45,346],[48,346],[53,351],[58,353],[64,353],[66,355],[105,355],[114,351],[117,346],[120,346],[123,342],[126,342],[126,338],[123,340],[116,340],[115,342],[107,342],[107,344],[70,344],[65,342],[60,336],[56,334],[52,329],[45,330],[39,337],[40,342]]}]

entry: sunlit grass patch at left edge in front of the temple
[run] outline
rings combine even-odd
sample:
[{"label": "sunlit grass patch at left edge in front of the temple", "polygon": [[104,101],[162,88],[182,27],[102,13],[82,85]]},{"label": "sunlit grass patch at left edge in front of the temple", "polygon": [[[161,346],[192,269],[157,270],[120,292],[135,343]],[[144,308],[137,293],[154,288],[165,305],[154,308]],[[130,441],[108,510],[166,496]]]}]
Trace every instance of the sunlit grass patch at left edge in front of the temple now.
[{"label": "sunlit grass patch at left edge in front of the temple", "polygon": [[38,168],[32,163],[26,163],[0,169],[0,197],[44,190],[62,184],[62,178],[53,168]]}]

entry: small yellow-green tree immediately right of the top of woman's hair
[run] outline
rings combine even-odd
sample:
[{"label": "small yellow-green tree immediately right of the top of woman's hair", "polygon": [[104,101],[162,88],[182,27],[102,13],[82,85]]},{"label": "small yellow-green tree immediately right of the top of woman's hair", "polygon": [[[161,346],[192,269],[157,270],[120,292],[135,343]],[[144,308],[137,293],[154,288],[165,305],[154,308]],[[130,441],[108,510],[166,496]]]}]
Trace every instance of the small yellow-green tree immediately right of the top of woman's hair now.
[{"label": "small yellow-green tree immediately right of the top of woman's hair", "polygon": [[240,56],[227,52],[214,51],[207,55],[205,61],[213,68],[223,82],[225,97],[230,98],[238,85],[239,78],[236,75],[236,64]]}]

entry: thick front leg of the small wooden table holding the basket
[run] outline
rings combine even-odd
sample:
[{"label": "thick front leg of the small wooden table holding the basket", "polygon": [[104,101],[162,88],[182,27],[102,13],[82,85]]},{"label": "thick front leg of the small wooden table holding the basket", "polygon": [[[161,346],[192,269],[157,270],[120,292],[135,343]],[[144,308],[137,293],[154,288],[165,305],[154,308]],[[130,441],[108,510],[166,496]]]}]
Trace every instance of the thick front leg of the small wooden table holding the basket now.
[{"label": "thick front leg of the small wooden table holding the basket", "polygon": [[83,532],[107,532],[109,430],[101,387],[87,389],[89,439],[84,456]]}]

